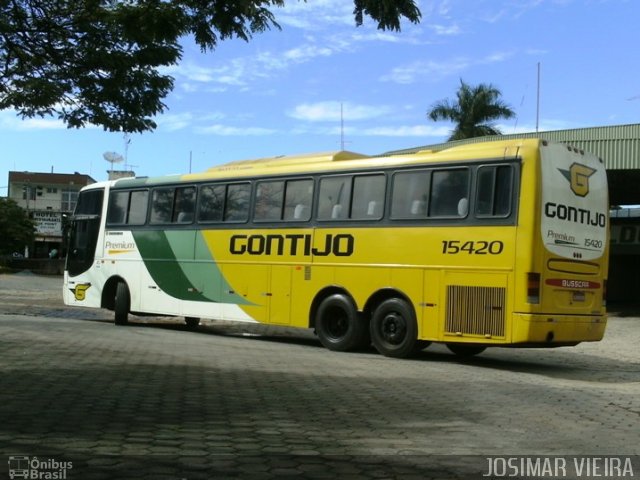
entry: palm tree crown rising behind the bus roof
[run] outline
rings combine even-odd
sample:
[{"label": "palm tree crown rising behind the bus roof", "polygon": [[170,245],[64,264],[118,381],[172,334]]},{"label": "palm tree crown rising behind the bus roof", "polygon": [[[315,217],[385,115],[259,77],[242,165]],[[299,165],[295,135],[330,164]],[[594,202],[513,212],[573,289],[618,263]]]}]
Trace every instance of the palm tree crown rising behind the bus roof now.
[{"label": "palm tree crown rising behind the bus roof", "polygon": [[457,101],[436,102],[427,116],[433,121],[451,120],[456,124],[449,141],[500,135],[500,130],[491,122],[516,115],[509,105],[500,100],[501,95],[500,90],[491,84],[481,83],[474,87],[460,79]]}]

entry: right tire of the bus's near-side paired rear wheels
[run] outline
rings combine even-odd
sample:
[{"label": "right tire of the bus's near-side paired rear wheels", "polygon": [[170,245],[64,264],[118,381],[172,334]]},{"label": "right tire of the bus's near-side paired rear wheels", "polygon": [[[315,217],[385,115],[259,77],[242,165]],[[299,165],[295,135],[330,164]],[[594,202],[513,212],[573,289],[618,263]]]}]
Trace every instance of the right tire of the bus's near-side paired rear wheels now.
[{"label": "right tire of the bus's near-side paired rear wheels", "polygon": [[413,308],[401,298],[389,298],[376,307],[370,330],[373,346],[387,357],[406,358],[424,348]]}]

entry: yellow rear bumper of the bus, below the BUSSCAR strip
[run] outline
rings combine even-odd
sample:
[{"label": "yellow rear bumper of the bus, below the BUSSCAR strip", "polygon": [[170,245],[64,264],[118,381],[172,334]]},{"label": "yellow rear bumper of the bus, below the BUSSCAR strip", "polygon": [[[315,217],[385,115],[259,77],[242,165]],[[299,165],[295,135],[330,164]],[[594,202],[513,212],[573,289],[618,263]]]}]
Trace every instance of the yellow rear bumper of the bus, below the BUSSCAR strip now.
[{"label": "yellow rear bumper of the bus, below the BUSSCAR strip", "polygon": [[533,315],[516,313],[511,342],[553,347],[602,340],[605,315]]}]

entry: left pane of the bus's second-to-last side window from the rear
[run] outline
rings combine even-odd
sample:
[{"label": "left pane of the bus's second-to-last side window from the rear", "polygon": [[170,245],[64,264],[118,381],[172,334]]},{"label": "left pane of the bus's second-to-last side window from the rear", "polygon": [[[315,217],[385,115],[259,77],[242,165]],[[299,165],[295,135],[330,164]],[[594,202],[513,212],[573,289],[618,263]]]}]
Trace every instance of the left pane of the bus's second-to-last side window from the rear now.
[{"label": "left pane of the bus's second-to-last side window from the rear", "polygon": [[429,198],[429,172],[412,170],[393,176],[391,218],[420,219],[427,217]]}]

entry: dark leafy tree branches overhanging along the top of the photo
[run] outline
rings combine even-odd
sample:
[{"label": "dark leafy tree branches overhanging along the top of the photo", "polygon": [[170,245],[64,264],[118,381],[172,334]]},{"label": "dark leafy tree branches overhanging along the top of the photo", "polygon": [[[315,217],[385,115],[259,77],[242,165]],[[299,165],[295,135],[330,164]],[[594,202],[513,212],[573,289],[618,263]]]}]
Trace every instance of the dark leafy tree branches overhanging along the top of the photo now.
[{"label": "dark leafy tree branches overhanging along the top of the photo", "polygon": [[[303,0],[306,1],[306,0]],[[180,39],[203,51],[280,29],[285,0],[0,0],[0,109],[57,115],[68,127],[153,130],[179,63]],[[420,19],[415,0],[354,0],[355,24],[400,30]]]}]

